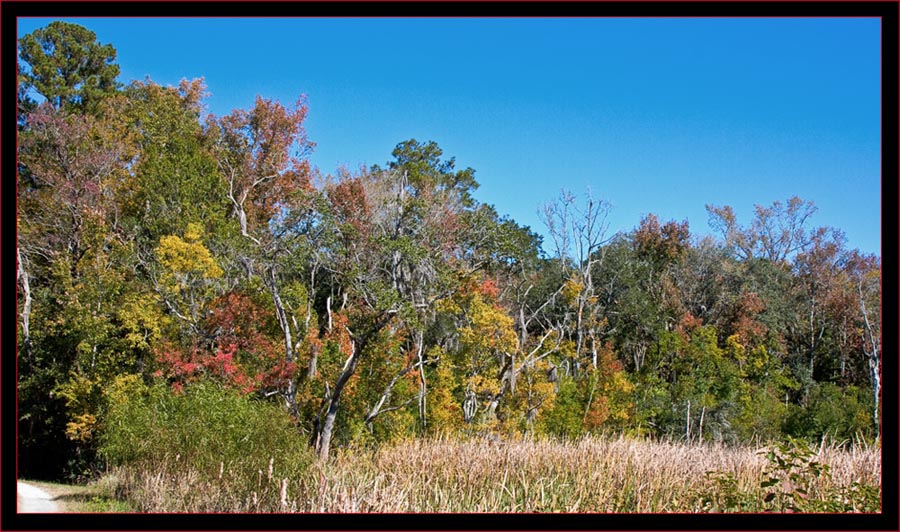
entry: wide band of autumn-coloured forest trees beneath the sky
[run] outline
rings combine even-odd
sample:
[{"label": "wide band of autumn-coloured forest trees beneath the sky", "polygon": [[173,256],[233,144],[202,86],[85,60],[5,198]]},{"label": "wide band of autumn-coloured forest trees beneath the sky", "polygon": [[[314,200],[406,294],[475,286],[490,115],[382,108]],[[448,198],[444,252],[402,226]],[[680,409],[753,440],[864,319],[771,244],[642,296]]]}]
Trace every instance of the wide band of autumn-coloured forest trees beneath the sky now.
[{"label": "wide band of autumn-coloured forest trees beneath the sky", "polygon": [[700,236],[652,213],[611,228],[607,201],[563,191],[542,238],[434,142],[325,173],[303,97],[215,116],[202,79],[121,83],[84,27],[19,47],[20,475],[93,478],[149,452],[164,413],[220,403],[318,461],[878,440],[881,259],[811,200],[710,204]]}]

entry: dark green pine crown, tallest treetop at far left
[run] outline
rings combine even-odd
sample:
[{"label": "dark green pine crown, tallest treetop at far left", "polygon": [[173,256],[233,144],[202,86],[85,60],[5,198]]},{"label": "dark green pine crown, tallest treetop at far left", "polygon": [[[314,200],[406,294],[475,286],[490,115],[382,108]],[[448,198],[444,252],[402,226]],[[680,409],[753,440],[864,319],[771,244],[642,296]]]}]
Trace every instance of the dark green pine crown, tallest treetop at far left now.
[{"label": "dark green pine crown, tallest treetop at far left", "polygon": [[19,40],[20,80],[57,110],[96,111],[118,88],[116,50],[77,24],[54,21]]}]

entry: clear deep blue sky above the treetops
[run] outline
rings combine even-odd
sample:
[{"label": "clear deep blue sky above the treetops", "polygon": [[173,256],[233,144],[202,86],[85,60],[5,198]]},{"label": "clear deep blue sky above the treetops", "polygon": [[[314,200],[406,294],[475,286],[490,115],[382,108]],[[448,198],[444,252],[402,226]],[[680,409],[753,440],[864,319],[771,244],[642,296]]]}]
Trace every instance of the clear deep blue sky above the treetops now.
[{"label": "clear deep blue sky above the treetops", "polygon": [[746,224],[799,195],[880,252],[878,19],[64,20],[115,46],[122,82],[204,77],[217,115],[306,94],[325,173],[434,140],[539,233],[562,188],[609,201],[610,232],[653,212],[696,235],[708,203]]}]

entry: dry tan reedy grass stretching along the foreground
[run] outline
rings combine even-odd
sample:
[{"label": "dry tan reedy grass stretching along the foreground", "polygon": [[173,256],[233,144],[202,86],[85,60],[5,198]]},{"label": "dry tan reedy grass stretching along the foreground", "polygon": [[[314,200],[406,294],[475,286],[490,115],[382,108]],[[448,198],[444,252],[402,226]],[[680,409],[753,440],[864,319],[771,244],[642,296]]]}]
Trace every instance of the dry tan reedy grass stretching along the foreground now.
[{"label": "dry tan reedy grass stretching along the foreground", "polygon": [[[286,473],[275,457],[248,474],[246,467],[231,470],[224,462],[217,471],[203,470],[176,456],[119,468],[107,482],[141,512],[768,511],[773,490],[796,495],[790,490],[799,488],[791,486],[799,484],[763,486],[774,474],[767,451],[623,437],[414,440],[379,450],[341,450],[301,473]],[[877,504],[880,493],[879,449],[822,446],[809,456],[827,465],[828,474],[804,480],[808,493],[797,500],[810,504],[803,508],[834,508],[813,502],[849,497],[841,511],[872,511],[872,494]],[[806,475],[790,464],[781,469],[785,479]],[[859,487],[868,494],[865,504],[851,500]]]}]

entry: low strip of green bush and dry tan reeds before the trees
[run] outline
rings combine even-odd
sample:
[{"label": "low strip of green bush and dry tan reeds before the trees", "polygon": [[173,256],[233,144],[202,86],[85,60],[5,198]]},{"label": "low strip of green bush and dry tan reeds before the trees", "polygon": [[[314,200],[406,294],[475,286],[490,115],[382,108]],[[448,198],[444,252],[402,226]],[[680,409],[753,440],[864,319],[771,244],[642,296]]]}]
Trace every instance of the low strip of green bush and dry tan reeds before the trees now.
[{"label": "low strip of green bush and dry tan reeds before the trees", "polygon": [[874,447],[433,438],[320,462],[278,405],[129,386],[101,452],[108,490],[139,512],[880,511]]}]

